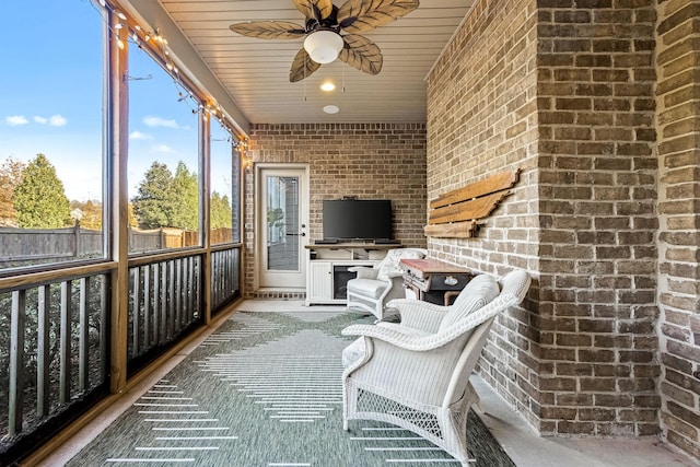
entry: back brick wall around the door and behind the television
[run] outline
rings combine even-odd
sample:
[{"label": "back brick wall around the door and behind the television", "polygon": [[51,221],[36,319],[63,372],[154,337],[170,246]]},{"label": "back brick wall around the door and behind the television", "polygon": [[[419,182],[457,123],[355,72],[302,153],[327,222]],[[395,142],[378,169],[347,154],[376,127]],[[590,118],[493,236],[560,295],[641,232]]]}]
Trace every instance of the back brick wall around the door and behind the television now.
[{"label": "back brick wall around the door and behind the television", "polygon": [[[322,201],[342,196],[390,199],[394,236],[425,246],[424,124],[253,125],[255,163],[304,163],[310,167],[310,241],[323,237]],[[245,183],[245,293],[255,294],[254,179]]]}]

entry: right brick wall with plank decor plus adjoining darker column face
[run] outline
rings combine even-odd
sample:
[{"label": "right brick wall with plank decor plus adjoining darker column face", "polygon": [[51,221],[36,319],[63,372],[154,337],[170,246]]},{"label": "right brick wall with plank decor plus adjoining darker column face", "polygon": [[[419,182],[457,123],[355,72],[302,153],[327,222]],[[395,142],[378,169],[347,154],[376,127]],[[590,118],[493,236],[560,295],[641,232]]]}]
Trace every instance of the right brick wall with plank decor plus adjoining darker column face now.
[{"label": "right brick wall with plank decor plus adjoining darker column face", "polygon": [[658,430],[655,19],[652,0],[481,0],[430,77],[429,198],[524,171],[477,241],[429,246],[538,276],[481,374],[542,434]]}]

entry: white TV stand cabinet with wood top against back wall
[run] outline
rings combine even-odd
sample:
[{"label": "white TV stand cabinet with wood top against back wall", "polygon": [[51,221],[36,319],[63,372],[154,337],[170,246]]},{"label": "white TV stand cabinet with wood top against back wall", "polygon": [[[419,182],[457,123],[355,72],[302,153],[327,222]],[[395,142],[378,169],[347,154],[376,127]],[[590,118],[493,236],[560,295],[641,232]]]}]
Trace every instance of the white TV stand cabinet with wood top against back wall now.
[{"label": "white TV stand cabinet with wood top against back wall", "polygon": [[355,277],[349,268],[373,266],[399,244],[336,243],[306,245],[306,305],[342,305],[346,284]]}]

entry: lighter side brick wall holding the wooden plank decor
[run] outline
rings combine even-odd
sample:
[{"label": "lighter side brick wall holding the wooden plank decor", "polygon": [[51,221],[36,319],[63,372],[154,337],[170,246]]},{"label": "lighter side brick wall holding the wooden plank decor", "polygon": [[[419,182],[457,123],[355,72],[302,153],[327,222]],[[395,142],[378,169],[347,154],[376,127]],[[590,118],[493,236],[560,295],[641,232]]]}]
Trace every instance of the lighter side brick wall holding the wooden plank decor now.
[{"label": "lighter side brick wall holding the wooden plank decor", "polygon": [[[428,198],[520,168],[513,195],[472,240],[429,238],[431,256],[503,273],[538,270],[536,14],[529,0],[476,3],[428,82]],[[506,37],[506,40],[503,38]],[[457,78],[455,78],[457,77]],[[538,425],[537,280],[526,310],[501,316],[481,360],[481,375]]]}]

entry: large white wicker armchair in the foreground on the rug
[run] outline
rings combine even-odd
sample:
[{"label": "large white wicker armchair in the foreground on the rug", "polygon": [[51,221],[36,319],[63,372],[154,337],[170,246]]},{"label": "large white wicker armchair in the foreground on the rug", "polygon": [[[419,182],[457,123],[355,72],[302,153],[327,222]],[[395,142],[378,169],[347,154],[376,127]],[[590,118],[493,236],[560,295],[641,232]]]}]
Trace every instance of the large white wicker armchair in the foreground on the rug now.
[{"label": "large white wicker armchair in the foreground on the rug", "polygon": [[488,277],[472,279],[452,306],[396,300],[390,306],[399,308],[400,324],[343,329],[361,336],[343,351],[345,430],[352,419],[389,422],[468,465],[467,415],[478,402],[469,376],[493,319],[520,304],[530,283],[527,272],[510,272],[493,299]]}]

